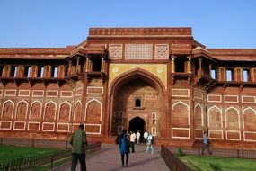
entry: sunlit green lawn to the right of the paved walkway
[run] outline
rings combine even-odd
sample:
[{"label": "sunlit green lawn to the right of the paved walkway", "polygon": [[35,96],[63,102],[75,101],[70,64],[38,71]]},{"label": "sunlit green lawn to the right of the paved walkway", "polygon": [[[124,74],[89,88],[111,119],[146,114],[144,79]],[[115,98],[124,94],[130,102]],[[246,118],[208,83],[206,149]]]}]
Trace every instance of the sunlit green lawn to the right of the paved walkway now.
[{"label": "sunlit green lawn to the right of the paved walkway", "polygon": [[184,156],[182,162],[193,171],[255,171],[256,159]]}]

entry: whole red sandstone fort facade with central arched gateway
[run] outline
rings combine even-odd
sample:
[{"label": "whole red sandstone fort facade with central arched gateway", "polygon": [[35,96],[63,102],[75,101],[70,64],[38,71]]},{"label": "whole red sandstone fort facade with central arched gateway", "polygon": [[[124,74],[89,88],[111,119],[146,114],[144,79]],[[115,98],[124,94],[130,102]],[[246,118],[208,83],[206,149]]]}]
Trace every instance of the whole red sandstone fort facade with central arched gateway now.
[{"label": "whole red sandstone fort facade with central arched gateway", "polygon": [[0,49],[0,137],[256,147],[256,49],[207,49],[191,28],[91,28],[66,48]]}]

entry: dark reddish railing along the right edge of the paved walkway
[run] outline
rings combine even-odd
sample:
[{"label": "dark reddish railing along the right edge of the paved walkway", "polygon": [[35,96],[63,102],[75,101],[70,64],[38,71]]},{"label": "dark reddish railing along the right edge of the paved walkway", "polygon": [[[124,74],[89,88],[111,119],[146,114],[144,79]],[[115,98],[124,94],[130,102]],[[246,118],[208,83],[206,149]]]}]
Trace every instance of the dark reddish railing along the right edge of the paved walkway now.
[{"label": "dark reddish railing along the right edge of the paved walkway", "polygon": [[166,165],[172,171],[190,171],[190,167],[186,166],[181,162],[181,159],[176,157],[172,152],[165,148],[163,145],[161,146],[161,156],[165,161]]}]

